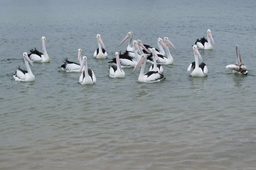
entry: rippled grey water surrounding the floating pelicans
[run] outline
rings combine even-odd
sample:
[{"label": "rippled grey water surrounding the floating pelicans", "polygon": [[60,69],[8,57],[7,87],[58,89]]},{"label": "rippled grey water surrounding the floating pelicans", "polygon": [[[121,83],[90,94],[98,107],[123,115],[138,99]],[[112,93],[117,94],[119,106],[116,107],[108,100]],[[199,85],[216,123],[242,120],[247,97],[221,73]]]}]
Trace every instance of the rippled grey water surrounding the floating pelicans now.
[{"label": "rippled grey water surrounding the floating pelicans", "polygon": [[[1,170],[256,170],[255,0],[1,0]],[[192,45],[211,29],[212,51],[200,50],[209,74],[191,77]],[[157,47],[169,37],[173,65],[166,80],[139,83],[140,69],[108,76],[119,43]],[[108,59],[95,59],[101,34]],[[50,63],[31,66],[35,82],[16,82],[23,52],[42,51]],[[236,63],[239,45],[249,75]],[[58,68],[87,56],[96,84]],[[146,70],[149,68],[146,66]]]}]

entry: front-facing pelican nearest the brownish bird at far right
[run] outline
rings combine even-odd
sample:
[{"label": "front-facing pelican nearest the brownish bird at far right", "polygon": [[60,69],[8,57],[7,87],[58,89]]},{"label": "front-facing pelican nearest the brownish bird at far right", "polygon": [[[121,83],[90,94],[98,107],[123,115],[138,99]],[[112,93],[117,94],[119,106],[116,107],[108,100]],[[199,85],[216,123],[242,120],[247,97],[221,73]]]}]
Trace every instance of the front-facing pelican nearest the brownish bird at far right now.
[{"label": "front-facing pelican nearest the brownish bird at far right", "polygon": [[[197,45],[193,45],[193,51],[195,55],[195,61],[189,65],[187,71],[190,72],[191,76],[204,77],[208,73],[208,68],[206,64],[203,62],[201,54],[198,51]],[[202,63],[200,65],[198,65],[198,57],[202,60]]]}]

